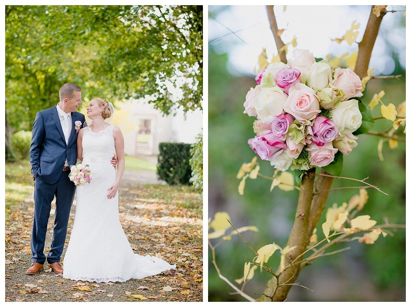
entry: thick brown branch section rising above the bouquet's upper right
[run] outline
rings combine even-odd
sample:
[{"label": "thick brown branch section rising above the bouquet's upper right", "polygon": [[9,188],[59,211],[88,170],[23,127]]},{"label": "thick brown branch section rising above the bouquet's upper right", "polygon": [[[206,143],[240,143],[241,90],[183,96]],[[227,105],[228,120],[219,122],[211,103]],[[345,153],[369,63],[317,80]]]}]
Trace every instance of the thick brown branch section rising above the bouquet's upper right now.
[{"label": "thick brown branch section rising above the bouquet's upper right", "polygon": [[[371,58],[372,48],[377,39],[378,31],[383,17],[386,14],[386,10],[382,10],[380,16],[377,17],[373,12],[371,7],[371,12],[369,13],[367,27],[364,32],[364,37],[360,44],[358,44],[358,57],[356,63],[356,69],[354,72],[363,78],[367,76],[367,69],[369,65],[369,59]],[[385,6],[386,7],[386,6]]]}]

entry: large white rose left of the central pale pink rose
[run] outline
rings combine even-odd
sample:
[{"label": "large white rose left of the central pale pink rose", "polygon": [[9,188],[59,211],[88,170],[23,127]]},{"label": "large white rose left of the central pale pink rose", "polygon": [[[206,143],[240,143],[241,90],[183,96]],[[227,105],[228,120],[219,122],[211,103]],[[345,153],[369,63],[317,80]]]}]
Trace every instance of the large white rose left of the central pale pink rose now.
[{"label": "large white rose left of the central pale pink rose", "polygon": [[271,123],[274,116],[283,113],[287,96],[278,86],[262,88],[255,102],[258,118],[265,124]]}]

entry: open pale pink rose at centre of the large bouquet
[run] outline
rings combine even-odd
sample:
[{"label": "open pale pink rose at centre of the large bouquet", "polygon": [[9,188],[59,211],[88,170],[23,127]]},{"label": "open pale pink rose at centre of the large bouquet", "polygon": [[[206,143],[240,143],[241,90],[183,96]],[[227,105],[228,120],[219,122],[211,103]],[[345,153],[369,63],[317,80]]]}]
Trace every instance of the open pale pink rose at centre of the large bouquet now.
[{"label": "open pale pink rose at centre of the large bouquet", "polygon": [[304,123],[314,119],[321,112],[320,101],[311,87],[303,83],[296,83],[290,87],[284,111]]}]

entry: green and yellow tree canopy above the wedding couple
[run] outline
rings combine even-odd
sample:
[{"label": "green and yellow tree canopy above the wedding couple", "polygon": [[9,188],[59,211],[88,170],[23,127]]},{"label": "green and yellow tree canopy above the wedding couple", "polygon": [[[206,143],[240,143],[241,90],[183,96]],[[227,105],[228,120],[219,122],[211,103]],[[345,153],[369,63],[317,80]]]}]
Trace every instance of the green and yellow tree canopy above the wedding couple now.
[{"label": "green and yellow tree canopy above the wedding couple", "polygon": [[67,82],[83,100],[202,109],[202,6],[6,6],[6,116],[31,130]]}]

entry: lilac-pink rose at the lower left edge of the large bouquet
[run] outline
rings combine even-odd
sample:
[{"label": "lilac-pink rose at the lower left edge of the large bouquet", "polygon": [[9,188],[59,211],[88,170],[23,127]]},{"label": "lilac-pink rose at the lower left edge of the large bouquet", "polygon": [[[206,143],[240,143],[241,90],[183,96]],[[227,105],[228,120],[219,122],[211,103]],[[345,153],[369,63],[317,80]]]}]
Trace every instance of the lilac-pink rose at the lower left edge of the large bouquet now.
[{"label": "lilac-pink rose at the lower left edge of the large bouquet", "polygon": [[287,148],[285,142],[275,136],[271,131],[265,131],[248,140],[248,145],[261,158],[261,160],[275,159]]}]

